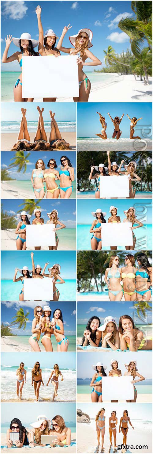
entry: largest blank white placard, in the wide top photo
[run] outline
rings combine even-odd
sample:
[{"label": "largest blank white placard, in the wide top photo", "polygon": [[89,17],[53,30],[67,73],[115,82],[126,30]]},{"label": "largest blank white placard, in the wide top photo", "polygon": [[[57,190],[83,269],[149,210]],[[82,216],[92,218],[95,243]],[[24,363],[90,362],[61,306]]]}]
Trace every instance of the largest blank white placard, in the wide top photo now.
[{"label": "largest blank white placard, in the wide top photo", "polygon": [[23,98],[78,97],[77,55],[22,59]]}]

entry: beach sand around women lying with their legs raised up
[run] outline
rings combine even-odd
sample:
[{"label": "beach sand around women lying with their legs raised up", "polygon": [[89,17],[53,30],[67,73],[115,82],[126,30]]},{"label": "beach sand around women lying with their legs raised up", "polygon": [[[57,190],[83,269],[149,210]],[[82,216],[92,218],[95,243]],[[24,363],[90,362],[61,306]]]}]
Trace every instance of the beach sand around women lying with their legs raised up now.
[{"label": "beach sand around women lying with their legs raised up", "polygon": [[[30,132],[30,140],[31,143],[34,141],[35,133]],[[18,137],[18,133],[2,133],[1,134],[1,150],[2,151],[10,151],[13,147],[14,143],[16,143]],[[49,132],[47,133],[48,142],[49,142]],[[62,138],[65,139],[68,143],[70,143],[70,147],[72,150],[76,150],[76,133],[63,133]],[[71,150],[70,150],[71,151]]]}]

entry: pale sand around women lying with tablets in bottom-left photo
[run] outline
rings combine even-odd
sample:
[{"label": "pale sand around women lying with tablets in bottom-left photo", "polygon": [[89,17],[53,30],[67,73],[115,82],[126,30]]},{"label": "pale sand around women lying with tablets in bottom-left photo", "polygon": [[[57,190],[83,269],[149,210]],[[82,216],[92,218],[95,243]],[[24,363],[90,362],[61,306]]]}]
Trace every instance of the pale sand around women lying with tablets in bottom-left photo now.
[{"label": "pale sand around women lying with tablets in bottom-left photo", "polygon": [[[73,442],[76,442],[76,434],[75,433],[72,433],[72,440]],[[1,446],[5,446],[6,445],[6,434],[1,434]],[[14,448],[15,449],[15,448]],[[42,447],[42,446],[36,446],[34,449],[34,452],[36,454],[40,453],[42,454],[43,452],[53,452],[53,453],[66,453],[66,454],[73,454],[73,453],[76,453],[76,445],[74,446],[67,446],[66,448],[61,448],[61,447],[57,447],[57,448],[46,448],[46,447]],[[47,450],[47,451],[46,451]],[[2,453],[11,453],[12,452],[12,448],[8,449],[8,448],[1,448],[0,449],[0,452]],[[23,446],[23,448],[18,448],[18,452],[20,453],[31,453],[31,448],[29,448],[29,446]]]}]

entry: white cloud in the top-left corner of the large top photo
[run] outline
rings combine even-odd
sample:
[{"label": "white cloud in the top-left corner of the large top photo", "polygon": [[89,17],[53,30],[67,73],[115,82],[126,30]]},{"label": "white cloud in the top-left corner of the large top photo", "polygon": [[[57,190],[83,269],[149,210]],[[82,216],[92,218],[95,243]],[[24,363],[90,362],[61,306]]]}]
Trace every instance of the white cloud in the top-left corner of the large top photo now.
[{"label": "white cloud in the top-left corner of the large top photo", "polygon": [[28,7],[23,0],[20,1],[4,1],[2,5],[1,15],[5,18],[20,20],[26,15]]}]

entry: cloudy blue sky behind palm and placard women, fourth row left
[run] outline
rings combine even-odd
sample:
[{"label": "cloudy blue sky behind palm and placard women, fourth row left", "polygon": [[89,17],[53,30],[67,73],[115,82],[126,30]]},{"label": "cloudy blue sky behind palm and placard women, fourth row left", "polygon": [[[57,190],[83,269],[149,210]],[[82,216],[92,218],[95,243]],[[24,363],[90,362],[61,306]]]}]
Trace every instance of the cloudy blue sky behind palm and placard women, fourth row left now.
[{"label": "cloudy blue sky behind palm and placard women, fourth row left", "polygon": [[[6,211],[8,214],[16,215],[17,212],[23,210],[23,206],[19,207],[19,205],[24,203],[24,200],[2,200],[3,210]],[[65,203],[66,202],[66,203]],[[73,199],[63,199],[59,201],[50,201],[48,199],[40,200],[38,203],[40,209],[42,210],[41,217],[44,219],[44,223],[46,224],[49,220],[47,212],[51,212],[53,209],[58,211],[58,217],[61,222],[63,222],[67,228],[76,227],[76,200]],[[35,216],[32,215],[30,218],[30,224],[32,224],[33,219]],[[17,218],[17,223],[19,219]],[[59,227],[59,226],[57,226]]]}]

